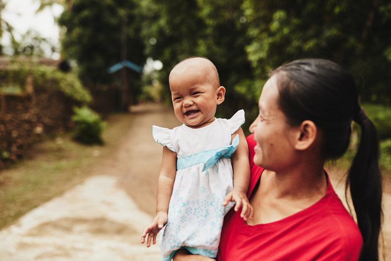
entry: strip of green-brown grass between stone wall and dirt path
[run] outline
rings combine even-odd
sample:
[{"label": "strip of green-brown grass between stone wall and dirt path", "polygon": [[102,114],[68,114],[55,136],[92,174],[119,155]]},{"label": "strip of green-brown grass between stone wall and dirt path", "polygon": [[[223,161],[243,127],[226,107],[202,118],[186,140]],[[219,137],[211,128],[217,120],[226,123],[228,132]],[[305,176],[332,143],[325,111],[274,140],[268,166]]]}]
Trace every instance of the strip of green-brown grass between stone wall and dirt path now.
[{"label": "strip of green-brown grass between stone wall and dirt path", "polygon": [[91,169],[115,152],[131,117],[107,119],[103,146],[74,142],[65,133],[36,143],[22,161],[0,172],[0,229],[92,175]]}]

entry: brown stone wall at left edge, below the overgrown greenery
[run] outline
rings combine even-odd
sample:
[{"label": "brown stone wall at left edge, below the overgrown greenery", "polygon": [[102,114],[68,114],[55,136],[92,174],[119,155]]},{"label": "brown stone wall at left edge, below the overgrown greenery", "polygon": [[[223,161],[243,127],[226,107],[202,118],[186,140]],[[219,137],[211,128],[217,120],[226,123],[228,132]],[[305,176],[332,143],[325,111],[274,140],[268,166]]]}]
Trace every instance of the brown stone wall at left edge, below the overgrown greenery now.
[{"label": "brown stone wall at left edge, below the overgrown greenery", "polygon": [[0,170],[21,158],[43,134],[70,128],[75,105],[60,91],[50,89],[0,95]]}]

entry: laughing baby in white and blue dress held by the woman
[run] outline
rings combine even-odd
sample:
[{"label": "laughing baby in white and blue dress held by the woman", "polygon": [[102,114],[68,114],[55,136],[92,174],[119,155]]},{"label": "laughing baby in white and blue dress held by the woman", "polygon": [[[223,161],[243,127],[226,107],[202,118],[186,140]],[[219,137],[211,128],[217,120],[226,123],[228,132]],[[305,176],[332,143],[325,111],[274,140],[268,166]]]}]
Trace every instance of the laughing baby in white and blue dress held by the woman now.
[{"label": "laughing baby in white and blue dress held by the woman", "polygon": [[[141,236],[147,247],[163,228],[163,261],[176,250],[217,256],[224,215],[235,205],[240,216],[252,218],[246,193],[250,178],[248,147],[241,129],[244,111],[231,119],[216,119],[224,101],[215,65],[206,58],[181,61],[169,76],[176,118],[183,123],[170,130],[152,126],[154,140],[163,147],[157,185],[156,216]],[[235,203],[234,203],[235,202]]]}]

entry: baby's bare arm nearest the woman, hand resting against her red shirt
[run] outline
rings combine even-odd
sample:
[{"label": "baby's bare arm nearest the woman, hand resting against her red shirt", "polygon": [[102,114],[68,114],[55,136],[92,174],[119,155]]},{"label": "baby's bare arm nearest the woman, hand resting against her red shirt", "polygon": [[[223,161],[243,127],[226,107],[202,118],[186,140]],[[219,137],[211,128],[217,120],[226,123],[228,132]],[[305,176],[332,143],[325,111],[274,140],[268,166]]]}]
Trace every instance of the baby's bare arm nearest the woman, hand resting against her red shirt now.
[{"label": "baby's bare arm nearest the woman, hand resting against her red shirt", "polygon": [[227,194],[223,205],[226,206],[229,201],[235,201],[235,211],[240,207],[242,211],[240,216],[247,220],[253,218],[253,207],[251,207],[247,198],[248,185],[250,183],[250,163],[248,154],[248,145],[243,130],[239,128],[232,137],[239,134],[239,145],[232,155],[232,166],[234,169],[234,189]]}]

